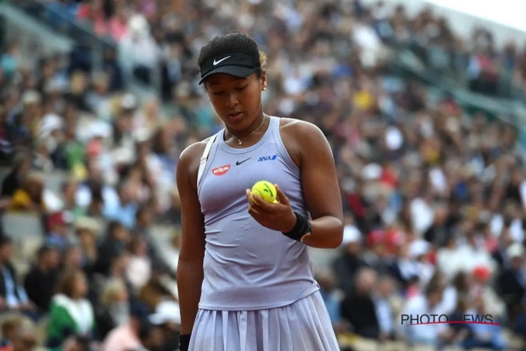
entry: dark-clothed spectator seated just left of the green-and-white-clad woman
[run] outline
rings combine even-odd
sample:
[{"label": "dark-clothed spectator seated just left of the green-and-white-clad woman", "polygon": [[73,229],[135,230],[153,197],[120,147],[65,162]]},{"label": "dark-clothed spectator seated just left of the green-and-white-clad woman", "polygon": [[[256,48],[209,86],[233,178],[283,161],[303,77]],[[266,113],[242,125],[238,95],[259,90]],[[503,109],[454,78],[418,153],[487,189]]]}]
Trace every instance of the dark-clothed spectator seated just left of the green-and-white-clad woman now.
[{"label": "dark-clothed spectator seated just left of the green-and-white-clad woman", "polygon": [[35,265],[25,277],[27,297],[41,313],[48,311],[57,284],[59,265],[59,251],[52,246],[42,246],[36,254]]}]

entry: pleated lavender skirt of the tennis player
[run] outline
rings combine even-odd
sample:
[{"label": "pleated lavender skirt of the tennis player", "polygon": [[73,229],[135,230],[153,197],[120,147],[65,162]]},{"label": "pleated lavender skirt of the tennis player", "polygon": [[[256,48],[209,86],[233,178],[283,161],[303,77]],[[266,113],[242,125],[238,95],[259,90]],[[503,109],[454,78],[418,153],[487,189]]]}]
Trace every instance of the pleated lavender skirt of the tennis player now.
[{"label": "pleated lavender skirt of the tennis player", "polygon": [[337,350],[319,291],[269,310],[198,310],[189,347],[189,351]]}]

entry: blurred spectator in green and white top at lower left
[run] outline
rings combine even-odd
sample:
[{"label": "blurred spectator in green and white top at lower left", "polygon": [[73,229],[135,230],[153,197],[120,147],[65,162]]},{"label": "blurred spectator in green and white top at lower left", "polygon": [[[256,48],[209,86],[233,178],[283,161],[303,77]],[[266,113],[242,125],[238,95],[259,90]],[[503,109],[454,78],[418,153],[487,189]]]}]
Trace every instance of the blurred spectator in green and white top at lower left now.
[{"label": "blurred spectator in green and white top at lower left", "polygon": [[57,293],[51,302],[48,321],[48,350],[61,350],[70,336],[91,340],[95,331],[93,306],[86,299],[88,282],[78,269],[67,270],[60,277]]}]

